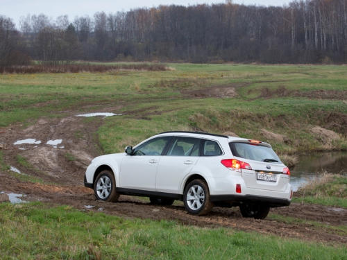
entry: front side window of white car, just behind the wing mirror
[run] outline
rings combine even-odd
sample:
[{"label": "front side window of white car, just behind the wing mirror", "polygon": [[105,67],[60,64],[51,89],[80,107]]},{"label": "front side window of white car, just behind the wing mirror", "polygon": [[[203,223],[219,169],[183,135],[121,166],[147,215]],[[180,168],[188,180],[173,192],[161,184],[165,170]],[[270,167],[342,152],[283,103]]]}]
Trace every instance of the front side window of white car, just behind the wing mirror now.
[{"label": "front side window of white car, just behind the wing mirror", "polygon": [[146,141],[135,148],[134,155],[162,155],[169,139],[170,137],[157,137]]}]

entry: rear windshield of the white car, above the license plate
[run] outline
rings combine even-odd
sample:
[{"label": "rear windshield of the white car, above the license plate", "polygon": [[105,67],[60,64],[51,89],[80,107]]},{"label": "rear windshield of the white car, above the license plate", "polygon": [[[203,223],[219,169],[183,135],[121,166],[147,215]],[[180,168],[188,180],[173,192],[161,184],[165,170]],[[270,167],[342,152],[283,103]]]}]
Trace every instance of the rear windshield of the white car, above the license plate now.
[{"label": "rear windshield of the white car, above the license plate", "polygon": [[272,148],[247,143],[229,143],[232,155],[260,162],[280,162]]}]

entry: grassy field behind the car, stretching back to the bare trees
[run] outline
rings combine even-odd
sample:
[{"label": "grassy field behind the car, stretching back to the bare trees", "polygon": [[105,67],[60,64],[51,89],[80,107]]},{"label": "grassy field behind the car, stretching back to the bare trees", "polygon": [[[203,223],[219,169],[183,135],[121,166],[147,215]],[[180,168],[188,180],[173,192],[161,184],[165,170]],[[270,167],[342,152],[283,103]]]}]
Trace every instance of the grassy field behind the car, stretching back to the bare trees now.
[{"label": "grassy field behind the car, stretching back to the bare trees", "polygon": [[[0,75],[0,125],[114,107],[124,116],[105,119],[99,129],[105,153],[165,130],[231,131],[269,141],[280,154],[347,149],[345,66],[167,66],[169,71]],[[316,125],[337,135],[312,130]]]}]

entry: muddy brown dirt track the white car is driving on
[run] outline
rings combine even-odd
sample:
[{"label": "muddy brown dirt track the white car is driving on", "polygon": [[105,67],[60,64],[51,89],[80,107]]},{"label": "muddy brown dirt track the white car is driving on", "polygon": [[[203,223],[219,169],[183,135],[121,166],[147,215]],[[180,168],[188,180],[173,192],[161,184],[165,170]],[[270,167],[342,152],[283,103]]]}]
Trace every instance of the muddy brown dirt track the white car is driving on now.
[{"label": "muddy brown dirt track the white car is driving on", "polygon": [[[346,232],[326,227],[347,225],[346,209],[297,203],[271,209],[273,214],[298,219],[295,223],[286,223],[274,218],[242,218],[238,208],[214,207],[207,216],[192,216],[186,213],[182,202],[162,207],[130,196],[121,196],[117,203],[96,201],[92,189],[83,187],[83,175],[90,160],[101,153],[92,133],[102,120],[99,117],[93,123],[85,123],[83,118],[76,117],[71,112],[64,118],[39,119],[28,128],[23,128],[22,125],[0,128],[0,148],[6,164],[43,180],[43,183],[35,184],[21,182],[10,171],[0,170],[0,191],[26,194],[25,200],[71,205],[83,211],[103,211],[126,218],[176,220],[184,225],[232,227],[305,241],[347,243]],[[14,145],[15,141],[27,138],[40,140],[41,143]],[[49,140],[57,139],[62,139],[62,142],[56,147],[46,144]],[[18,155],[26,159],[28,166],[19,164]],[[94,207],[87,209],[86,205]],[[303,223],[301,220],[313,220],[316,225]]]}]

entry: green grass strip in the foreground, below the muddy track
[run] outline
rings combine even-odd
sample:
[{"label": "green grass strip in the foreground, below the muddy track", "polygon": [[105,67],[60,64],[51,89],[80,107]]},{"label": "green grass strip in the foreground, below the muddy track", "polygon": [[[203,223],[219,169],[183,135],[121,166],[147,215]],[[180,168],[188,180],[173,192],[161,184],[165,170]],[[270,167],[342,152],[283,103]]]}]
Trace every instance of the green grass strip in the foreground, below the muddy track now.
[{"label": "green grass strip in the foreground, below the muddy track", "polygon": [[344,245],[124,219],[40,203],[0,205],[2,259],[344,259]]}]

